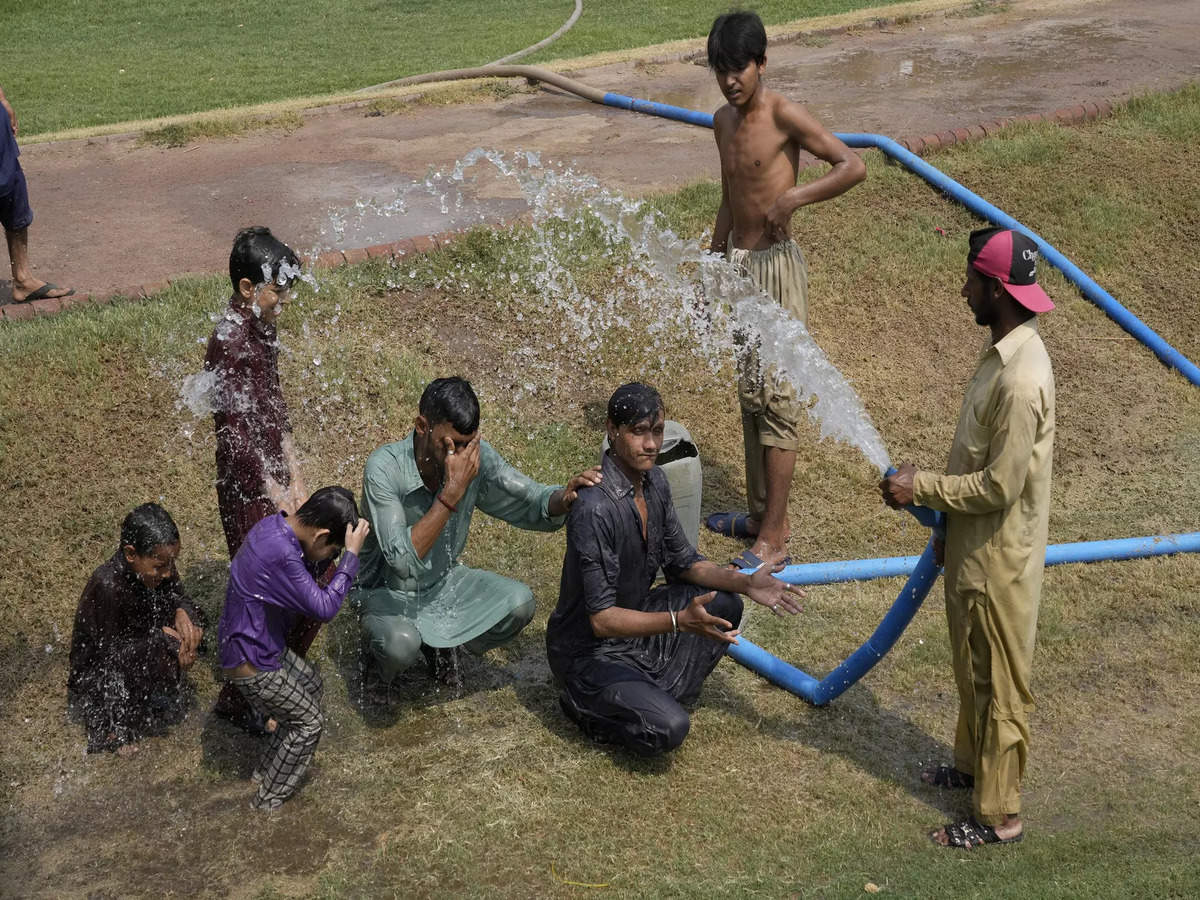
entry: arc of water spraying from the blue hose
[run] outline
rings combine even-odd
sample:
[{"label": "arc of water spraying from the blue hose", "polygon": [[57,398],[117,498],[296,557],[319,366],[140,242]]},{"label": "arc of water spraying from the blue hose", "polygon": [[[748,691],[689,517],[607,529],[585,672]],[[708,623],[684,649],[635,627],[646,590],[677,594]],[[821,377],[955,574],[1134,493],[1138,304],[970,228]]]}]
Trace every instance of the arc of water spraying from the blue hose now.
[{"label": "arc of water spraying from the blue hose", "polygon": [[[534,152],[476,148],[450,170],[397,187],[388,200],[361,199],[332,210],[323,233],[328,238],[331,232],[335,242],[348,232],[361,240],[372,221],[385,227],[422,198],[455,210],[457,221],[484,221],[486,212],[474,198],[497,194],[523,198],[530,227],[520,239],[502,244],[486,263],[470,254],[436,263],[431,257],[392,260],[383,287],[427,287],[454,298],[452,306],[494,302],[504,310],[518,331],[514,340],[498,341],[502,358],[496,368],[510,383],[485,400],[511,410],[509,425],[520,418],[516,404],[548,403],[563,390],[564,356],[581,380],[617,383],[676,371],[680,352],[720,372],[757,346],[763,367],[794,385],[822,438],[858,448],[881,473],[887,468],[887,451],[862,401],[802,323],[724,258],[676,234],[650,203],[624,197],[562,163],[544,163]],[[328,248],[311,248],[310,258]],[[283,275],[301,278],[314,292],[320,287],[311,269]],[[402,377],[386,365],[394,348],[382,344],[361,317],[343,317],[340,305],[312,302],[301,292],[295,308],[299,326],[287,328],[280,341],[281,364],[288,366],[286,390],[289,397],[304,398],[306,412],[331,424],[330,432],[342,443],[326,474],[354,482],[373,449],[366,438],[377,418],[372,397],[397,386],[395,379]],[[220,318],[214,317],[218,328]],[[560,325],[551,328],[551,322]],[[187,337],[192,346],[204,340]],[[623,342],[644,344],[641,368],[610,353]],[[371,361],[370,377],[359,374],[364,359]],[[191,414],[180,428],[188,452],[210,445],[211,430],[200,424],[212,412],[214,376],[178,367],[172,376],[179,385],[178,407]]]}]

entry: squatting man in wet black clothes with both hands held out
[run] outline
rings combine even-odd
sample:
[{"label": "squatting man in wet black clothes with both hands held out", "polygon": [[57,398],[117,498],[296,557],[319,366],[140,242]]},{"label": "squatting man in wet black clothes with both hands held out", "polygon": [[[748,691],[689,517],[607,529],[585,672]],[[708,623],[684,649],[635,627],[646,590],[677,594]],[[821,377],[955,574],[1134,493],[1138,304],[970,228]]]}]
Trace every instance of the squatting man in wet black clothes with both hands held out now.
[{"label": "squatting man in wet black clothes with both hands held out", "polygon": [[[683,704],[737,637],[745,594],[776,614],[803,593],[772,577],[718,566],[692,547],[655,466],[662,398],[644,384],[608,401],[599,486],[580,492],[566,521],[558,607],[546,626],[559,703],[584,734],[646,756],[688,736]],[[652,589],[659,568],[667,583]]]}]

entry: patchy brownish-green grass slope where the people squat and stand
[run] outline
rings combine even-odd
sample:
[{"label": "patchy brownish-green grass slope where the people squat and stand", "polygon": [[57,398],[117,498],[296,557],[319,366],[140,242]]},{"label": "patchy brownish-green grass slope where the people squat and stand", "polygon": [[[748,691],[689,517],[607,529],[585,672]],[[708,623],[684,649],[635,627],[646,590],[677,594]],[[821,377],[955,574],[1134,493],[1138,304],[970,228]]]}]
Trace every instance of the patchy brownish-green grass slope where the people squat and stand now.
[{"label": "patchy brownish-green grass slope where the people squat and stand", "polygon": [[[1186,248],[1200,239],[1198,137],[1193,86],[1100,122],[1016,127],[932,162],[1196,359],[1200,263]],[[812,332],[893,460],[937,467],[984,340],[958,293],[977,222],[868,160],[865,185],[797,220]],[[706,182],[655,204],[695,235],[718,197]],[[728,361],[694,355],[674,312],[625,305],[620,286],[641,270],[620,248],[604,256],[612,248],[587,228],[551,241],[606,310],[594,348],[574,340],[570,317],[522,277],[534,240],[476,230],[400,266],[326,274],[304,294],[282,326],[281,365],[308,485],[358,488],[366,455],[404,434],[422,384],[450,372],[479,388],[485,433],[503,454],[560,481],[594,458],[596,404],[637,376],[696,437],[706,511],[742,505]],[[1056,274],[1044,270],[1044,283],[1057,302],[1042,324],[1058,388],[1051,540],[1194,530],[1200,390]],[[246,809],[257,746],[208,718],[211,662],[193,671],[196,710],[170,736],[132,760],[85,756],[82,728],[64,715],[72,613],[130,508],[160,499],[173,512],[185,582],[220,608],[211,425],[179,391],[227,290],[199,280],[150,302],[0,328],[0,893],[851,898],[874,883],[906,898],[1200,894],[1196,556],[1046,571],[1018,847],[967,856],[925,838],[964,810],[917,778],[923,762],[947,758],[955,713],[940,587],[892,654],[828,708],[725,661],[684,746],[643,762],[583,740],[558,710],[544,637],[562,534],[482,516],[467,562],[528,582],[534,623],[469,659],[461,695],[412,673],[379,700],[362,696],[356,622],[343,611],[312,654],[329,714],[316,770],[278,815]],[[646,350],[652,323],[664,329]],[[877,473],[811,433],[790,508],[797,562],[918,552],[924,535],[882,506]],[[739,546],[701,538],[718,559]],[[824,673],[899,587],[811,588],[799,619],[751,613],[748,636]]]}]

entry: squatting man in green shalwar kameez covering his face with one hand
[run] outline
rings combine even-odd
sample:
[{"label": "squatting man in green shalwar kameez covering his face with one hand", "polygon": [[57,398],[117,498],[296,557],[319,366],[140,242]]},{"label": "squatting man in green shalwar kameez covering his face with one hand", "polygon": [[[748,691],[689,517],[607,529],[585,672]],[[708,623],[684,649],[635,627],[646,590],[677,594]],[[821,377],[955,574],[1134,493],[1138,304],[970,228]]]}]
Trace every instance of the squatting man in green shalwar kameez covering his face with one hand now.
[{"label": "squatting man in green shalwar kameez covering his face with one hand", "polygon": [[421,395],[403,440],[367,458],[362,508],[371,535],[358,580],[362,635],[379,676],[391,680],[430,648],[480,654],[516,636],[534,616],[533,592],[512,578],[458,563],[475,509],[517,528],[563,526],[580,487],[541,485],[509,466],[479,436],[479,400],[462,378],[439,378]]}]

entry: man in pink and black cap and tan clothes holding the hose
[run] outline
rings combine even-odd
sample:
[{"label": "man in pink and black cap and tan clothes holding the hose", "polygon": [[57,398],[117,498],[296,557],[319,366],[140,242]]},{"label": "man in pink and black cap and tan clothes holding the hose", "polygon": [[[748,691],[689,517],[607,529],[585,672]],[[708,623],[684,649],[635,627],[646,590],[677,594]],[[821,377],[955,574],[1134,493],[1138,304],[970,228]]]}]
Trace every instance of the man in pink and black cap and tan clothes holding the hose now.
[{"label": "man in pink and black cap and tan clothes holding the hose", "polygon": [[948,847],[1012,844],[1024,834],[1020,781],[1055,428],[1054,371],[1036,316],[1054,304],[1038,287],[1037,260],[1024,234],[972,232],[962,296],[991,343],[967,385],[947,474],[902,463],[880,482],[890,506],[947,514],[935,547],[946,565],[959,720],[954,764],[928,768],[922,780],[973,788],[972,815],[931,835]]}]

